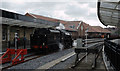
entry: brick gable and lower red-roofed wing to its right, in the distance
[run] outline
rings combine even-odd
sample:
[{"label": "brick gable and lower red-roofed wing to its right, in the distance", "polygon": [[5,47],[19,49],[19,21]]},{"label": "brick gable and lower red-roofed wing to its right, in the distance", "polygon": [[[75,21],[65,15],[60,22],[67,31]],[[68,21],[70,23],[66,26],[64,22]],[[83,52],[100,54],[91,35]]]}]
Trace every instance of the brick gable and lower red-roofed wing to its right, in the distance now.
[{"label": "brick gable and lower red-roofed wing to its right, in the distance", "polygon": [[101,37],[107,37],[111,34],[111,31],[104,29],[100,26],[90,26],[89,24],[82,23],[80,25],[80,37],[85,37],[86,34],[88,38],[96,37],[96,38],[101,38]]}]

